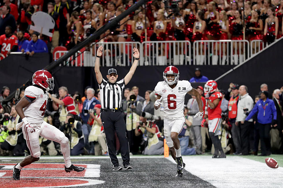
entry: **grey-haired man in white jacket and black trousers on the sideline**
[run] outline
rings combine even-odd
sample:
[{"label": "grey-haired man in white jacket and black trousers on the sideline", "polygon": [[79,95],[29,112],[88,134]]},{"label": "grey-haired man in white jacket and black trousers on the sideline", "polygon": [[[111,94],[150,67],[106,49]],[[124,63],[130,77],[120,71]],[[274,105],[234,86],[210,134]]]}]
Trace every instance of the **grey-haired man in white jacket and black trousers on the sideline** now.
[{"label": "grey-haired man in white jacket and black trousers on the sideline", "polygon": [[237,105],[237,117],[236,117],[236,126],[240,127],[241,133],[241,153],[242,155],[249,155],[250,153],[250,131],[252,128],[252,119],[245,121],[247,113],[250,112],[254,105],[254,100],[247,93],[247,86],[240,86],[239,88],[239,102]]}]

